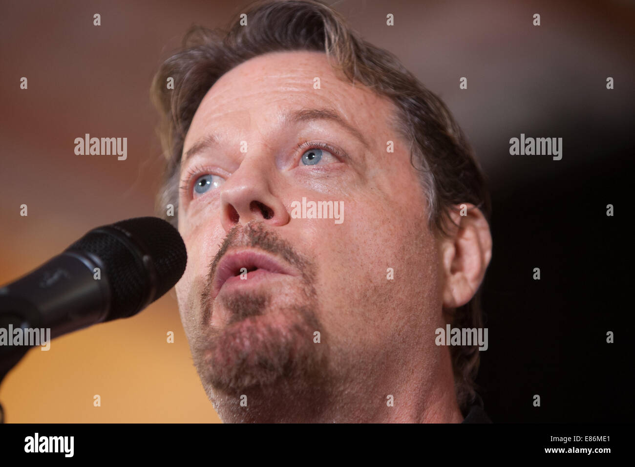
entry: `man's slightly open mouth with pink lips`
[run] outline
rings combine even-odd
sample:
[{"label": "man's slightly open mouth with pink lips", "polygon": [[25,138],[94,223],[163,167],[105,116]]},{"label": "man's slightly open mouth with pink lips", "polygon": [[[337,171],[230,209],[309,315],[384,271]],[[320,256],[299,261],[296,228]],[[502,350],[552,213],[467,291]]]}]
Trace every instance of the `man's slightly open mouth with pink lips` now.
[{"label": "man's slightly open mouth with pink lips", "polygon": [[218,263],[212,295],[216,298],[225,284],[228,286],[239,283],[251,284],[255,280],[271,277],[272,274],[298,275],[291,267],[262,250],[227,252]]}]

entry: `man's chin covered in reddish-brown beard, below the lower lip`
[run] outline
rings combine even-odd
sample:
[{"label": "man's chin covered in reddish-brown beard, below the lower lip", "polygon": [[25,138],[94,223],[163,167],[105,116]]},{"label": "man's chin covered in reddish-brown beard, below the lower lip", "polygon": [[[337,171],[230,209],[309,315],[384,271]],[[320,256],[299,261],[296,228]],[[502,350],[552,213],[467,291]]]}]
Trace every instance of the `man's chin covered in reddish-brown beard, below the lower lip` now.
[{"label": "man's chin covered in reddish-brown beard, below the lower lip", "polygon": [[236,399],[247,392],[275,392],[319,373],[324,344],[313,337],[323,329],[314,310],[275,307],[253,297],[248,303],[266,306],[258,313],[248,308],[232,313],[228,325],[210,326],[194,342],[192,356],[208,396],[209,389]]}]

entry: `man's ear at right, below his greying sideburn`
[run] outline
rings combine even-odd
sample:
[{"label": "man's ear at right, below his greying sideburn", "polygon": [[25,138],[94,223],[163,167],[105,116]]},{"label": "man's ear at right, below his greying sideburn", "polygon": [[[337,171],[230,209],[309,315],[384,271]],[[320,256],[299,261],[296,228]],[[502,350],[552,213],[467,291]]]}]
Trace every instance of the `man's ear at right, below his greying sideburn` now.
[{"label": "man's ear at right, below his greying sideburn", "polygon": [[463,306],[474,297],[491,259],[490,225],[481,210],[464,203],[450,210],[450,217],[450,236],[438,240],[445,309]]}]

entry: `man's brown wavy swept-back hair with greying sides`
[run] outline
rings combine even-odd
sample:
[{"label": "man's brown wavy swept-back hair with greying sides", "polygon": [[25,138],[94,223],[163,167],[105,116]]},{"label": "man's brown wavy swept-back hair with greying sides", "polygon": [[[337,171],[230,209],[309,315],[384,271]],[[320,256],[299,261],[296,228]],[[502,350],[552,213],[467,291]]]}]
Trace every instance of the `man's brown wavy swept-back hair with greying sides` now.
[{"label": "man's brown wavy swept-back hair with greying sides", "polygon": [[[428,227],[448,235],[448,213],[472,203],[491,216],[491,204],[473,151],[447,107],[427,90],[391,52],[370,44],[352,30],[337,11],[313,0],[257,1],[243,11],[248,25],[234,18],[229,30],[190,28],[182,48],[161,65],[152,81],[151,97],[161,114],[159,137],[166,158],[163,186],[157,193],[157,215],[178,222],[178,177],[183,143],[204,95],[237,65],[273,51],[320,51],[342,79],[361,83],[396,105],[399,136],[410,145],[410,160],[420,172],[429,203]],[[174,89],[168,90],[168,78]],[[175,215],[166,216],[166,206]],[[453,327],[479,328],[483,313],[480,289],[462,307],[446,310]],[[455,391],[462,410],[476,398],[478,346],[450,347]]]}]

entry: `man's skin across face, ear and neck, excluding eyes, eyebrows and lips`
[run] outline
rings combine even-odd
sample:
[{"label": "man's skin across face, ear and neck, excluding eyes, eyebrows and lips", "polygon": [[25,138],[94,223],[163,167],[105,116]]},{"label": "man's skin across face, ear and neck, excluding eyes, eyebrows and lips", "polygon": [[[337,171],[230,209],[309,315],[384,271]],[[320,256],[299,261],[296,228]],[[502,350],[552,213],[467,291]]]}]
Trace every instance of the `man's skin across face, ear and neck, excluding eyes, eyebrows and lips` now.
[{"label": "man's skin across face, ear and neck, excluding eyes, eyebrows and lips", "polygon": [[[336,122],[278,118],[325,107],[358,128],[368,149]],[[194,364],[223,421],[462,421],[449,348],[435,345],[434,330],[445,326],[443,310],[469,301],[481,283],[490,231],[471,205],[455,217],[451,238],[429,231],[392,115],[389,100],[342,81],[326,55],[309,51],[252,58],[199,105],[184,154],[210,133],[219,144],[182,163],[178,227],[188,263],[177,297]],[[298,149],[304,141],[348,157],[323,150],[318,164],[304,165],[312,148]],[[195,193],[204,174],[221,178]],[[292,218],[291,203],[303,197],[343,201],[343,222]],[[293,275],[248,278],[214,298],[218,261],[238,250],[265,251]]]}]

